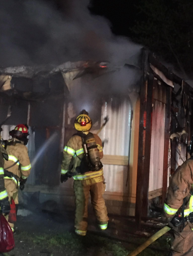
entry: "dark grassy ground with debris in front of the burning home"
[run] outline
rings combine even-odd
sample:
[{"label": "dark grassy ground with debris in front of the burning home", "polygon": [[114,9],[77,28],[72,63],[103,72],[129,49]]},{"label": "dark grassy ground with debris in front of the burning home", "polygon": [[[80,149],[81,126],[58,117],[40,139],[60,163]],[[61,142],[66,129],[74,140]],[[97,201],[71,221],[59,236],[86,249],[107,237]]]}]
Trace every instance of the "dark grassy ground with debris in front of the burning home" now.
[{"label": "dark grassy ground with debris in front of the burning home", "polygon": [[[110,218],[111,219],[111,218]],[[123,224],[123,223],[122,223]],[[129,232],[129,225],[122,225],[127,232],[119,229],[119,220],[111,223],[103,232],[92,221],[85,237],[74,233],[74,216],[66,213],[62,216],[48,213],[18,216],[14,234],[15,248],[9,256],[127,256],[147,237]],[[120,235],[116,235],[119,230]],[[150,233],[143,231],[144,233]],[[153,231],[154,232],[154,231]],[[163,236],[146,248],[139,256],[167,256],[171,237]]]}]

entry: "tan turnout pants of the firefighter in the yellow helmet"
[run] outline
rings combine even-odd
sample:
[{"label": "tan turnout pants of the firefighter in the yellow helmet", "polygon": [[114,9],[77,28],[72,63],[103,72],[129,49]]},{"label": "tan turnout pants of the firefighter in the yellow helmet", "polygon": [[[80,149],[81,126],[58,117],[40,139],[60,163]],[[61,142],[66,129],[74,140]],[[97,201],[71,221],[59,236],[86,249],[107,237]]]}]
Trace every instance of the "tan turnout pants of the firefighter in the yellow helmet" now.
[{"label": "tan turnout pants of the firefighter in the yellow helmet", "polygon": [[[96,182],[97,183],[94,183]],[[86,235],[87,219],[88,219],[88,199],[91,196],[91,204],[97,219],[99,227],[104,230],[107,228],[108,216],[107,208],[103,194],[105,191],[105,184],[103,176],[92,178],[89,180],[74,180],[74,194],[75,194],[75,232],[79,235]]]}]

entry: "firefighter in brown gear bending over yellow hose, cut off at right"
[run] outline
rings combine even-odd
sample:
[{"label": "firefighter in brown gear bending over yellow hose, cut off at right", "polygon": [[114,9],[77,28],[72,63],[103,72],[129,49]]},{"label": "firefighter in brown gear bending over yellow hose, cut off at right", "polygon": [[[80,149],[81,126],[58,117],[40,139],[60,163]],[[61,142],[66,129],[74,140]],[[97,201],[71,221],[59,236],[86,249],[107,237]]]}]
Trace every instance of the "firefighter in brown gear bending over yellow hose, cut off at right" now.
[{"label": "firefighter in brown gear bending over yellow hose, cut off at right", "polygon": [[[174,216],[179,216],[180,213],[182,217],[188,218],[189,214],[193,212],[193,140],[189,147],[189,153],[191,158],[178,167],[168,188],[162,214],[163,220],[167,222],[170,222]],[[170,255],[192,256],[193,223],[185,222],[184,227],[179,226],[175,228],[175,231],[177,232],[175,232],[175,240]]]}]

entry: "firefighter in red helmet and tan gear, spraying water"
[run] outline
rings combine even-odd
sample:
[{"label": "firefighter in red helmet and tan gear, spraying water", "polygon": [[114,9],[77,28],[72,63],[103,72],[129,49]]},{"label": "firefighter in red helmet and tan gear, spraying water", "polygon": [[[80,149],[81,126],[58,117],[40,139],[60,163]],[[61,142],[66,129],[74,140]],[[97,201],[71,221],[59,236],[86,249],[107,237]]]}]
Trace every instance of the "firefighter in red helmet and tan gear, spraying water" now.
[{"label": "firefighter in red helmet and tan gear, spraying water", "polygon": [[[5,187],[9,196],[9,201],[11,201],[11,197],[15,201],[16,211],[18,207],[18,188],[20,187],[20,189],[23,190],[31,170],[30,159],[26,147],[28,135],[27,125],[19,124],[14,130],[10,131],[12,139],[5,142],[5,149],[9,156],[8,161],[5,161],[4,165]],[[14,224],[9,224],[12,230],[14,230]]]}]

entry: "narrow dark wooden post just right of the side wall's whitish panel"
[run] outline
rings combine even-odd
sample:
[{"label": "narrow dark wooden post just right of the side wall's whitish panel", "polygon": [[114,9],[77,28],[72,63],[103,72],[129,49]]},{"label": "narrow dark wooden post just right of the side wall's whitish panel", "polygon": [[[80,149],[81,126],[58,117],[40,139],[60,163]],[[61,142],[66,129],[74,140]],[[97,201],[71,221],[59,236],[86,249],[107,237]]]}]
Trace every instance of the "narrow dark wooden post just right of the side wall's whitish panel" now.
[{"label": "narrow dark wooden post just right of the side wall's whitish panel", "polygon": [[171,109],[171,88],[166,89],[166,119],[164,136],[164,155],[163,155],[163,185],[162,185],[162,204],[164,204],[167,194],[167,175],[168,175],[168,151],[170,140],[170,109]]}]

